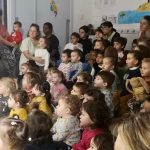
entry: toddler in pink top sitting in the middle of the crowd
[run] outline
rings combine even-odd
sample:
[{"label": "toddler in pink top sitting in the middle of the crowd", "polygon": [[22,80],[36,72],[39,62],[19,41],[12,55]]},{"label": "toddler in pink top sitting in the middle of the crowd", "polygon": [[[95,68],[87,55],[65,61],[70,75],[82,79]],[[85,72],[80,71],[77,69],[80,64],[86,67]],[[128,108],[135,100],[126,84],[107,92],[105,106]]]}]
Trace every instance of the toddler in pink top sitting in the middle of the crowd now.
[{"label": "toddler in pink top sitting in the middle of the crowd", "polygon": [[61,71],[55,70],[52,73],[52,104],[56,106],[58,104],[59,97],[68,93],[66,86],[63,84],[64,75]]}]

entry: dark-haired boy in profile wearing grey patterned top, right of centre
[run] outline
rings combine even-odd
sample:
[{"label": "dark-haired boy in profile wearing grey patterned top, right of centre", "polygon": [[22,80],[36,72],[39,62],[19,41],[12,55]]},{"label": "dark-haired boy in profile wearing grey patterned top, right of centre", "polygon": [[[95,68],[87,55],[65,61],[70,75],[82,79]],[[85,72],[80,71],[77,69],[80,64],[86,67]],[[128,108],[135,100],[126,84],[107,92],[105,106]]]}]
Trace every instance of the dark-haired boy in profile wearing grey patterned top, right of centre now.
[{"label": "dark-haired boy in profile wearing grey patterned top, right of centre", "polygon": [[108,71],[101,71],[97,73],[94,80],[94,87],[100,89],[100,91],[105,95],[105,102],[110,110],[111,117],[114,114],[114,105],[112,102],[112,92],[111,86],[114,82],[115,76]]}]

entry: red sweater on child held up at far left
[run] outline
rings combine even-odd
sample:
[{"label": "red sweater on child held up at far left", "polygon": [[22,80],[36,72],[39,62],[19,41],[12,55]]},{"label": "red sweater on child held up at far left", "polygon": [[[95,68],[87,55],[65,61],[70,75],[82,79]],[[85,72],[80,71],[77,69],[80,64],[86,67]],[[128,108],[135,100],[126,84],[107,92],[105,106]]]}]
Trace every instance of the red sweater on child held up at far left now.
[{"label": "red sweater on child held up at far left", "polygon": [[7,37],[7,41],[16,42],[16,44],[20,44],[22,41],[22,33],[21,32],[12,32],[10,36]]}]

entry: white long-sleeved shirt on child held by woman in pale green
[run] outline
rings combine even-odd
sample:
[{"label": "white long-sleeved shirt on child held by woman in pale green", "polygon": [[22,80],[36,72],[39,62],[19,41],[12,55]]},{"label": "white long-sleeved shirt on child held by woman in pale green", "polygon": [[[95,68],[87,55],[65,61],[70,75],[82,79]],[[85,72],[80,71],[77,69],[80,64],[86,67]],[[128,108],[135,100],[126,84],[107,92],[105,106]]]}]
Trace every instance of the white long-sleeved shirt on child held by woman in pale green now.
[{"label": "white long-sleeved shirt on child held by woman in pale green", "polygon": [[48,69],[49,61],[50,61],[50,54],[47,49],[36,49],[34,53],[35,57],[41,57],[44,59],[44,64],[40,64],[35,62],[38,66],[44,66],[44,70]]}]

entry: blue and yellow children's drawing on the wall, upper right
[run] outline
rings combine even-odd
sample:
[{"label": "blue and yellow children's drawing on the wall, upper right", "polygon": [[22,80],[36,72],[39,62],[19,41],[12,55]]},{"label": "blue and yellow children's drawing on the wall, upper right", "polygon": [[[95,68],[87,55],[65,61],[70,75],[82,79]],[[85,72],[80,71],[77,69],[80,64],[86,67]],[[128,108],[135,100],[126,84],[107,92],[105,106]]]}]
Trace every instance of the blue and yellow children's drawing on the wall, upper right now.
[{"label": "blue and yellow children's drawing on the wall, upper right", "polygon": [[140,5],[136,10],[121,11],[118,14],[118,24],[139,23],[145,15],[150,15],[150,0]]}]

